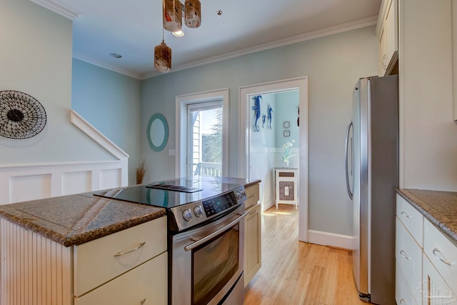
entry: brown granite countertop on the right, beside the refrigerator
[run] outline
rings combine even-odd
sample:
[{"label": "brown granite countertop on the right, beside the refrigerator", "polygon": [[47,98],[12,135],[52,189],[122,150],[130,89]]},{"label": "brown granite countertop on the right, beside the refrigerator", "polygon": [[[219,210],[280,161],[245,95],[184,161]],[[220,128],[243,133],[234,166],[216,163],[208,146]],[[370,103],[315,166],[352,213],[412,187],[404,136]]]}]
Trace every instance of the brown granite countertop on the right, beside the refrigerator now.
[{"label": "brown granite countertop on the right, beside the refrigerator", "polygon": [[457,246],[457,192],[397,189],[397,193]]}]

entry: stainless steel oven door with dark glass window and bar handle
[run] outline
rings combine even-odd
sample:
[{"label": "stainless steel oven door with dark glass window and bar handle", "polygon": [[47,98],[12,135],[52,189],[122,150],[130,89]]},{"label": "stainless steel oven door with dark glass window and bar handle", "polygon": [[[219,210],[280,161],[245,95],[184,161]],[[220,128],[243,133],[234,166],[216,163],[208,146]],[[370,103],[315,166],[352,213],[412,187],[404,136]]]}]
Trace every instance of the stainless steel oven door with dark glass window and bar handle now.
[{"label": "stainless steel oven door with dark glass window and bar handle", "polygon": [[169,304],[243,303],[245,215],[242,204],[222,219],[169,237]]}]

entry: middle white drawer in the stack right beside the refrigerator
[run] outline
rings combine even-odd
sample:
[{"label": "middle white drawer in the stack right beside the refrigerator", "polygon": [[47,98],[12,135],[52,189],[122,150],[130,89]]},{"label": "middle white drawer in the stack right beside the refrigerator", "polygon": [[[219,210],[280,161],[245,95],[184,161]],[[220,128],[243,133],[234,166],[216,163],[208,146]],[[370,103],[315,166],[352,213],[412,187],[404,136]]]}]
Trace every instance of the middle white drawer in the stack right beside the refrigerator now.
[{"label": "middle white drawer in the stack right beside the refrigerator", "polygon": [[421,291],[416,287],[422,279],[422,251],[398,217],[396,218],[395,258],[408,286],[411,287],[414,298],[416,301],[420,300]]}]

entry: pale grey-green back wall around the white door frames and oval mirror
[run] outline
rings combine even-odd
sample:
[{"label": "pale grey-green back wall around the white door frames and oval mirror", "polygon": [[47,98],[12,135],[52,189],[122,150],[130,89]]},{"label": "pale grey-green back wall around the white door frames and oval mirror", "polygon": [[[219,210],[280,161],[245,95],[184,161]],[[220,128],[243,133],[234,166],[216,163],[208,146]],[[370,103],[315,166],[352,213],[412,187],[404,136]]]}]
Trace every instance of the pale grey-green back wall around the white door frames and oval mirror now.
[{"label": "pale grey-green back wall around the white door frames and oval mirror", "polygon": [[141,153],[152,169],[146,179],[174,176],[174,156],[168,150],[175,143],[175,96],[229,88],[229,175],[238,176],[238,88],[307,76],[309,229],[352,235],[344,135],[353,86],[360,77],[376,74],[378,41],[374,26],[368,26],[146,79],[141,83],[141,137],[156,112],[170,126],[164,151],[151,151],[142,142]]}]

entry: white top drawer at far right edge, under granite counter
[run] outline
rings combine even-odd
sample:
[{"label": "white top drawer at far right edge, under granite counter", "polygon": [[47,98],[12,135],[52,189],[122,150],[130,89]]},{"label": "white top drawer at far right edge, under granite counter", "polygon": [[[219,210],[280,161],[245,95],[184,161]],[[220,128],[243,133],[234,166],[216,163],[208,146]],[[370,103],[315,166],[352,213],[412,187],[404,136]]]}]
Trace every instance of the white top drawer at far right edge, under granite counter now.
[{"label": "white top drawer at far right edge, under granite counter", "polygon": [[444,281],[457,291],[457,247],[428,220],[424,221],[423,251]]}]

